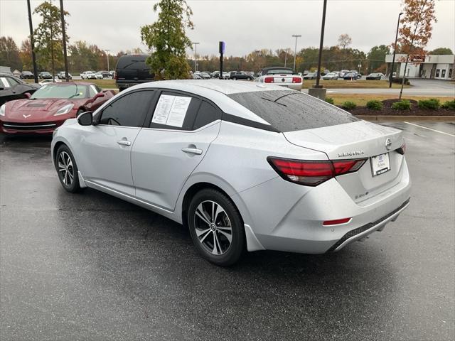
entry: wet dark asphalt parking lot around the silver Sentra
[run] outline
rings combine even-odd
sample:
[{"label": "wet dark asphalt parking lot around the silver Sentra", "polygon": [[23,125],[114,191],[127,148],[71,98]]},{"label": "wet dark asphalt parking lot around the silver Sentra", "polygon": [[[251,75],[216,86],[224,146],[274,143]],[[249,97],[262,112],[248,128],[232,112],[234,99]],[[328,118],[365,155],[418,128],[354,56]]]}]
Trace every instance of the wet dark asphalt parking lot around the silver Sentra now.
[{"label": "wet dark asphalt parking lot around the silver Sentra", "polygon": [[228,269],[164,217],[66,193],[50,139],[0,136],[0,340],[454,340],[455,125],[382,124],[407,140],[397,222],[336,254]]}]

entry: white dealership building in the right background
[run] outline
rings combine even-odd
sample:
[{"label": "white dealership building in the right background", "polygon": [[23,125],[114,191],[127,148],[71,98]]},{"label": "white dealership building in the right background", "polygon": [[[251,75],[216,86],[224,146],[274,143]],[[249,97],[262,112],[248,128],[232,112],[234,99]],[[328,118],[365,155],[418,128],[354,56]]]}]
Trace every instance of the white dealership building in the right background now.
[{"label": "white dealership building in the right background", "polygon": [[[395,71],[400,77],[432,78],[435,80],[455,80],[455,55],[412,55],[405,72],[405,54],[395,55]],[[387,73],[392,67],[393,55],[385,55]]]}]

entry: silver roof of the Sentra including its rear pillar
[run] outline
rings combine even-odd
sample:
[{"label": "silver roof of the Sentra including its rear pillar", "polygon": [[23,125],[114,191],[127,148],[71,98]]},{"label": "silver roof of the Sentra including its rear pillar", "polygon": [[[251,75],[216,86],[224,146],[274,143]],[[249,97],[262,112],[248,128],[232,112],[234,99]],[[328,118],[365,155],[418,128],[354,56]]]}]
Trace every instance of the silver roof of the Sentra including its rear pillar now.
[{"label": "silver roof of the Sentra including its rear pillar", "polygon": [[[210,99],[210,101],[220,107],[223,112],[232,114],[242,119],[249,119],[258,123],[267,124],[269,123],[264,119],[257,116],[241,104],[235,102],[233,99],[228,97],[228,94],[238,94],[244,92],[260,92],[260,91],[273,91],[273,90],[285,90],[285,91],[296,91],[288,89],[287,87],[279,87],[278,85],[264,85],[259,82],[246,82],[246,81],[235,81],[235,80],[159,80],[156,82],[147,82],[134,87],[129,87],[124,92],[139,90],[139,89],[168,89],[182,92],[190,92],[200,97]],[[109,101],[107,102],[109,103]],[[107,104],[105,104],[107,105]]]}]

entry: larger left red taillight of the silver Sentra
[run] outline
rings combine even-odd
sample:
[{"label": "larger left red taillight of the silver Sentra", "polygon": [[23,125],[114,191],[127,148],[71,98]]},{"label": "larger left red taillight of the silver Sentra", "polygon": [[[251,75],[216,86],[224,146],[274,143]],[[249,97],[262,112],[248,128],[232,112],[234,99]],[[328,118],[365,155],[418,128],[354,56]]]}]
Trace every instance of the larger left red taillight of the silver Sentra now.
[{"label": "larger left red taillight of the silver Sentra", "polygon": [[337,175],[358,171],[366,158],[343,161],[304,161],[289,158],[274,158],[269,156],[270,166],[292,183],[306,186],[317,186]]}]

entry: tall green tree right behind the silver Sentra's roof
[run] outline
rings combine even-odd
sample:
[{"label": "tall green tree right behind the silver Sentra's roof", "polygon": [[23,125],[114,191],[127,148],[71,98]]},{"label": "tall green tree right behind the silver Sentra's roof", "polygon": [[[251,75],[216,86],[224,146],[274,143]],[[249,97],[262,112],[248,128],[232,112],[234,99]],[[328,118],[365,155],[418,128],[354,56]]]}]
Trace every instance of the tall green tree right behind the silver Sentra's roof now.
[{"label": "tall green tree right behind the silver Sentra's roof", "polygon": [[190,77],[186,48],[192,48],[185,28],[193,29],[193,11],[185,0],[161,0],[154,4],[158,20],[141,27],[141,39],[151,50],[146,63],[157,80],[176,80]]}]

